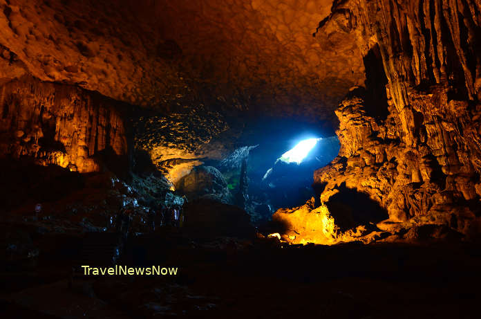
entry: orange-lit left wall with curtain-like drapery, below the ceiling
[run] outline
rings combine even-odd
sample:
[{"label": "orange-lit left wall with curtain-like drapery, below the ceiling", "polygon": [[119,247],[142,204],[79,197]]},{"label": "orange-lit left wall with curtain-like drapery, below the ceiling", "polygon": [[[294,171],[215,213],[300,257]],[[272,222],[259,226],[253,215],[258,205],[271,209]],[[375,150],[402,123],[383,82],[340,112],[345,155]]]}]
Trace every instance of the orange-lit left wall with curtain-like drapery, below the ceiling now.
[{"label": "orange-lit left wall with curtain-like drapery, below the ceiling", "polygon": [[1,157],[34,158],[82,173],[104,164],[129,168],[125,104],[25,76],[0,86],[0,107]]}]

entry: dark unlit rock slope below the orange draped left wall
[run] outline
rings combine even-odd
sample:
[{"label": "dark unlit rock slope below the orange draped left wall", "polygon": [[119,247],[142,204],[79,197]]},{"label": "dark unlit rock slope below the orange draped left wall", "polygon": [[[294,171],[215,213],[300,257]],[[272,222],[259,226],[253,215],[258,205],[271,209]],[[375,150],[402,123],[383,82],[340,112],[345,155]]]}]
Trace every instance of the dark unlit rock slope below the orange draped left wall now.
[{"label": "dark unlit rock slope below the orange draped left wall", "polygon": [[[40,234],[102,231],[115,227],[122,208],[133,211],[136,231],[149,227],[149,208],[140,202],[142,195],[111,172],[79,174],[18,160],[1,160],[1,164],[1,179],[9,181],[0,188],[2,222],[14,228]],[[37,203],[41,203],[39,213],[34,209]]]}]

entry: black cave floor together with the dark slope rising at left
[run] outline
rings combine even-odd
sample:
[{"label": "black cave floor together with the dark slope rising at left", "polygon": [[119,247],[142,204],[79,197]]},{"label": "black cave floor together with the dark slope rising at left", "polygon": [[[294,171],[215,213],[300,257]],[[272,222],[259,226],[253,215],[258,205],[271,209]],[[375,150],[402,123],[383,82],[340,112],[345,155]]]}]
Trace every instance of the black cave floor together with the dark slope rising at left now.
[{"label": "black cave floor together with the dark slope rising at left", "polygon": [[[477,318],[477,242],[302,246],[254,232],[151,231],[139,226],[138,194],[111,174],[16,165],[1,171],[10,209],[0,221],[1,318]],[[69,286],[86,242],[118,242],[109,214],[127,202],[137,226],[117,264],[173,266],[178,275],[77,275]]]}]

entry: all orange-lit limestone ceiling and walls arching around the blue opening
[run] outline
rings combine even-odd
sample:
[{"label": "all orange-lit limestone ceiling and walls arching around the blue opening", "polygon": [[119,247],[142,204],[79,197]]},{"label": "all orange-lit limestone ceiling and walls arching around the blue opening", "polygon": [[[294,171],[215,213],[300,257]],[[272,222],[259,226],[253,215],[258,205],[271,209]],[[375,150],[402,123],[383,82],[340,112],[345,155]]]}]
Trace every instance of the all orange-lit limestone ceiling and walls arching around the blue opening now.
[{"label": "all orange-lit limestone ceiling and walls arching around the blue opening", "polygon": [[[146,188],[154,194],[236,148],[226,115],[339,121],[339,157],[314,173],[339,231],[385,212],[376,232],[480,233],[478,0],[0,0],[0,9],[3,157],[97,172],[126,167],[134,145],[169,179]],[[127,123],[124,102],[145,113]],[[355,203],[346,192],[379,214],[343,207]]]}]

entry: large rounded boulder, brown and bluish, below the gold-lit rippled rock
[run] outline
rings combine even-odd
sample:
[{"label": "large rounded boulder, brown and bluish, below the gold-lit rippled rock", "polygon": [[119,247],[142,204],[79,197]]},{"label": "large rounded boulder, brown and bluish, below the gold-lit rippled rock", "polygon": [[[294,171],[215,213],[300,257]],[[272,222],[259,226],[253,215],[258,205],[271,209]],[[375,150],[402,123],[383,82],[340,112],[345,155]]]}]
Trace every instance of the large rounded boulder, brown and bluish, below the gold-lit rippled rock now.
[{"label": "large rounded boulder, brown and bluish, below the gold-lit rippled rock", "polygon": [[195,167],[176,183],[176,190],[189,200],[202,198],[232,203],[227,181],[219,170],[211,166]]}]

